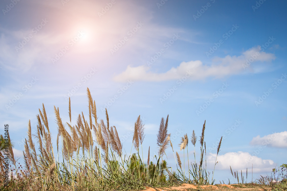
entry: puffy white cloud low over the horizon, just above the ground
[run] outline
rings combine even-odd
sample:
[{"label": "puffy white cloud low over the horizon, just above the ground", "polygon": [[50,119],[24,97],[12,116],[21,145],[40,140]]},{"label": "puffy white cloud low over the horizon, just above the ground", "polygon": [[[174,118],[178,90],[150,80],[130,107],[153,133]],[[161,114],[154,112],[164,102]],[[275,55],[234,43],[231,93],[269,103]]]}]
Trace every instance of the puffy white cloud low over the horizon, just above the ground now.
[{"label": "puffy white cloud low over the horizon, just above the ground", "polygon": [[[253,156],[252,156],[253,155]],[[243,169],[250,169],[253,165],[253,172],[260,173],[260,172],[271,172],[273,168],[275,168],[275,164],[273,160],[263,160],[256,156],[256,154],[250,154],[248,152],[228,152],[224,155],[218,155],[216,164],[216,169],[218,170],[243,170]],[[209,153],[207,156],[207,164],[208,167],[214,167],[216,159],[216,153]]]}]

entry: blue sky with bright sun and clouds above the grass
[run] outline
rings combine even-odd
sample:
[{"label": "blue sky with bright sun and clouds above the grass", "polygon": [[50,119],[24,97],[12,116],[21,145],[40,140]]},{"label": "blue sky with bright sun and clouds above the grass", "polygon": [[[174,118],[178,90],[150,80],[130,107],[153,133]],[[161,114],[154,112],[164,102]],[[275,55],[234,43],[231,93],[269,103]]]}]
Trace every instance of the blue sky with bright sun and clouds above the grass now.
[{"label": "blue sky with bright sun and clouds above the grass", "polygon": [[[53,144],[54,105],[63,123],[69,97],[72,124],[82,111],[88,116],[88,87],[98,118],[106,108],[128,155],[139,115],[144,161],[149,146],[157,153],[160,120],[169,115],[182,162],[181,137],[194,130],[199,140],[206,120],[207,168],[217,159],[217,183],[234,182],[230,166],[248,169],[250,182],[286,164],[286,1],[3,0],[0,7],[0,134],[9,124],[16,157],[42,104]],[[197,161],[199,148],[197,141]],[[188,149],[194,162],[190,139]],[[163,159],[176,168],[170,147]]]}]

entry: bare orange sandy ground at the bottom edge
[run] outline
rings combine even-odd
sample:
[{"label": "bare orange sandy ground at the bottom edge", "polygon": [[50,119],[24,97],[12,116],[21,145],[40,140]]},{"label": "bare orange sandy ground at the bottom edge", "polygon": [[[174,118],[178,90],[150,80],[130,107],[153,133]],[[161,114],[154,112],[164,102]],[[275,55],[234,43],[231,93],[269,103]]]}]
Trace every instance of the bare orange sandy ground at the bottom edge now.
[{"label": "bare orange sandy ground at the bottom edge", "polygon": [[[269,187],[266,187],[265,189],[270,190]],[[150,188],[147,187],[146,190],[142,190],[142,191],[174,191],[174,190],[180,190],[180,191],[191,191],[191,190],[216,190],[216,191],[227,191],[227,190],[232,190],[232,191],[263,191],[262,188],[260,188],[259,186],[253,186],[253,187],[246,187],[243,185],[238,185],[238,184],[231,184],[231,185],[227,185],[227,184],[217,184],[217,185],[203,185],[203,186],[195,186],[192,184],[182,184],[181,186],[177,186],[177,187],[170,187],[170,188]]]}]

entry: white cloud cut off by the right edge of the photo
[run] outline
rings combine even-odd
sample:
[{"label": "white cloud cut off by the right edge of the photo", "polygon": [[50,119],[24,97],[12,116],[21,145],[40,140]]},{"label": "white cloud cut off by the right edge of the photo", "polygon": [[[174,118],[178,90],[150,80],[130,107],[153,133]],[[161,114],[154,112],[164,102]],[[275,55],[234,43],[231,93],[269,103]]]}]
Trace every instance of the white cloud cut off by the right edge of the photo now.
[{"label": "white cloud cut off by the right edge of the photo", "polygon": [[260,137],[260,135],[257,135],[256,137],[253,137],[250,144],[251,145],[263,145],[263,146],[267,145],[268,147],[286,148],[287,147],[287,131],[265,135],[264,137]]}]

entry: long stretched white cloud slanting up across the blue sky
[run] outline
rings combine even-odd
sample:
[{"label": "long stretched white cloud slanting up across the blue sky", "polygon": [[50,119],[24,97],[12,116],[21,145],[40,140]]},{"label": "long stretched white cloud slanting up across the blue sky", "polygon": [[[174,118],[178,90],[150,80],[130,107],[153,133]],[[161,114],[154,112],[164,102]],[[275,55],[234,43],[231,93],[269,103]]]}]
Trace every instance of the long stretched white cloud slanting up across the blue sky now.
[{"label": "long stretched white cloud slanting up across the blue sky", "polygon": [[[174,68],[172,67],[165,73],[153,73],[149,71],[147,65],[143,66],[127,66],[127,69],[118,74],[113,79],[117,82],[125,82],[127,80],[134,81],[166,81],[182,78],[189,73],[192,75],[190,80],[204,80],[208,77],[222,78],[232,74],[239,74],[244,71],[243,64],[246,64],[246,60],[251,58],[251,55],[260,53],[254,62],[271,61],[275,59],[274,54],[260,52],[260,47],[253,47],[245,52],[241,56],[226,56],[224,58],[216,57],[213,59],[211,65],[204,65],[200,60],[181,62],[181,64]],[[250,66],[251,67],[251,66]]]}]

